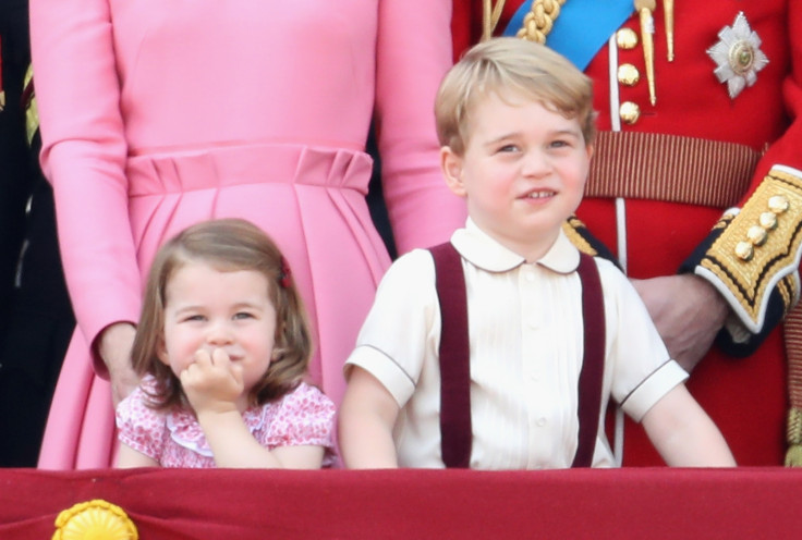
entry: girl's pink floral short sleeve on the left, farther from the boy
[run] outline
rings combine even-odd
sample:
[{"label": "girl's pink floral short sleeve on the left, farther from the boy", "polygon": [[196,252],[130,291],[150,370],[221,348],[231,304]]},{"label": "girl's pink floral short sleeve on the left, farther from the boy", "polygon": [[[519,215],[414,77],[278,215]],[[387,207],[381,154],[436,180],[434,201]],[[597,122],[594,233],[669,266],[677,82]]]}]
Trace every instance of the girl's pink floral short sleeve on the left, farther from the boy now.
[{"label": "girl's pink floral short sleeve on the left, farther from the boy", "polygon": [[163,450],[165,416],[147,407],[144,398],[145,393],[137,388],[117,406],[117,438],[159,462]]}]

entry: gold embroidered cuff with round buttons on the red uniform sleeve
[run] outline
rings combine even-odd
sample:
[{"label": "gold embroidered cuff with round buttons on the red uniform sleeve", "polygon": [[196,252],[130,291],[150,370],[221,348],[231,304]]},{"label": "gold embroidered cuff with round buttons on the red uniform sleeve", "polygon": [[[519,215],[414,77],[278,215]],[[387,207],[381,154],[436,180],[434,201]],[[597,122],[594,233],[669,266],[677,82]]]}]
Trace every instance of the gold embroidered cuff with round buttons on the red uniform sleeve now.
[{"label": "gold embroidered cuff with round buttons on the red uniform sleeve", "polygon": [[714,282],[741,322],[758,333],[773,291],[788,312],[799,299],[802,171],[777,165],[722,229],[695,269]]}]

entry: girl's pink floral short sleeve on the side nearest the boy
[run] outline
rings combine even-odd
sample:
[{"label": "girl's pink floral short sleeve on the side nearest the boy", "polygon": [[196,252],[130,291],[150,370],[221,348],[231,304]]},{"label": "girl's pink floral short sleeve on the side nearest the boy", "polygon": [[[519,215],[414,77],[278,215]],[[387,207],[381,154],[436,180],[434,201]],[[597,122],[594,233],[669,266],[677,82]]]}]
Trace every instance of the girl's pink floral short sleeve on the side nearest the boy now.
[{"label": "girl's pink floral short sleeve on the side nearest the boy", "polygon": [[313,445],[333,450],[335,404],[323,392],[301,384],[275,407],[263,444],[271,449]]}]

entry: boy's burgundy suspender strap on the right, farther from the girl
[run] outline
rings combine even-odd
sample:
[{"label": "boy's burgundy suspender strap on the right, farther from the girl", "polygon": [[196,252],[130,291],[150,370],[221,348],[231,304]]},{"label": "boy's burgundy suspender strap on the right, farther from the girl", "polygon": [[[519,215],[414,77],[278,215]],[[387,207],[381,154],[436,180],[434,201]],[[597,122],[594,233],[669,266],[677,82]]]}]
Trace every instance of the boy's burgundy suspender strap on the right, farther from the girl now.
[{"label": "boy's burgundy suspender strap on the right, farther from the girl", "polygon": [[580,433],[572,467],[591,467],[596,449],[598,418],[602,409],[602,385],[605,375],[605,304],[596,261],[580,254],[576,269],[582,281],[582,320],[584,353],[579,381]]}]

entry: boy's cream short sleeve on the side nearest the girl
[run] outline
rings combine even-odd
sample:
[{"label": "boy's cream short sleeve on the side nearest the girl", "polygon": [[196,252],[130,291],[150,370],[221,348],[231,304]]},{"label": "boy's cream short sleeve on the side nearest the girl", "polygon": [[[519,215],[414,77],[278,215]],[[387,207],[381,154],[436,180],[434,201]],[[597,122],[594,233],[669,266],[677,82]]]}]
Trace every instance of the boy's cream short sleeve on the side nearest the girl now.
[{"label": "boy's cream short sleeve on the side nearest the girl", "polygon": [[392,394],[399,407],[412,396],[424,361],[436,360],[440,309],[432,254],[416,249],[392,263],[345,361],[359,366]]}]

